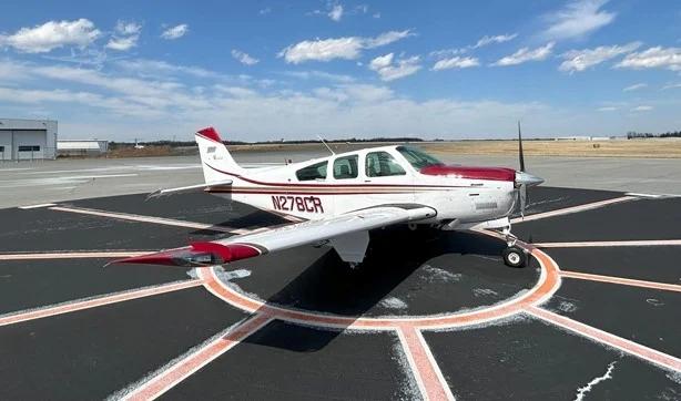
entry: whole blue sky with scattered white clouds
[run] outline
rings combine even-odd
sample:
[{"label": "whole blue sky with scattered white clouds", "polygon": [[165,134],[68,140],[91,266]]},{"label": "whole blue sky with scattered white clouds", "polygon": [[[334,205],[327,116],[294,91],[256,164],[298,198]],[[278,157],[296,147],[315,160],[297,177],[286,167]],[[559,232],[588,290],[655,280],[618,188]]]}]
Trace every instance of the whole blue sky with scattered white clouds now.
[{"label": "whole blue sky with scattered white clouds", "polygon": [[64,138],[622,135],[681,128],[678,0],[22,1],[0,115]]}]

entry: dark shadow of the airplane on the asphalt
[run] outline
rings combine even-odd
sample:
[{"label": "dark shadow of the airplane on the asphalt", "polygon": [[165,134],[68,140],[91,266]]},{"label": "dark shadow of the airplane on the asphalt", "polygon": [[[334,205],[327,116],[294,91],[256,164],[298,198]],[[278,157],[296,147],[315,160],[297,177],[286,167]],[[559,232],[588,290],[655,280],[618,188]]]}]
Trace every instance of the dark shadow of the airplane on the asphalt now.
[{"label": "dark shadow of the airplane on the asphalt", "polygon": [[[514,271],[519,271],[504,266],[500,254],[506,245],[502,241],[480,234],[436,229],[410,232],[406,227],[390,227],[372,232],[370,236],[370,250],[359,268],[350,269],[329,249],[281,290],[267,297],[266,305],[342,315],[356,320],[375,308],[419,267],[441,255],[475,254],[497,258],[501,268],[497,269],[498,266],[491,264],[490,271],[485,273],[487,275],[512,277]],[[286,325],[271,322],[245,342],[314,352],[326,347],[347,326],[325,330],[327,332],[311,342],[309,338],[287,335],[292,330],[287,330]],[[273,335],[272,330],[277,333]]]}]

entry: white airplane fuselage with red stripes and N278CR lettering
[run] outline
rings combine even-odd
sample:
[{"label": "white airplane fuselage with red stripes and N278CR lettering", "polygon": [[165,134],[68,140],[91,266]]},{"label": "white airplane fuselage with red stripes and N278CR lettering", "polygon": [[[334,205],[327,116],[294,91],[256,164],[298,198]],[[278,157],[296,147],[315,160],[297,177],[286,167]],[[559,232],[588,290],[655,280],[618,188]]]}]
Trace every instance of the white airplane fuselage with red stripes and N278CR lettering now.
[{"label": "white airplane fuselage with red stripes and N278CR lettering", "polygon": [[[404,174],[369,176],[367,154],[388,153]],[[352,177],[336,161],[355,160]],[[232,185],[209,188],[207,192],[227,199],[252,205],[275,214],[303,219],[322,219],[379,205],[424,205],[437,210],[427,224],[451,222],[476,223],[508,216],[514,207],[515,183],[509,179],[463,177],[453,172],[423,174],[397,151],[396,146],[365,148],[278,167],[227,171],[218,160],[202,161]],[[325,177],[299,179],[301,169],[327,162]],[[205,167],[205,166],[204,166]],[[342,166],[340,166],[342,167]],[[298,173],[298,174],[296,174]],[[347,172],[345,172],[347,173]]]}]

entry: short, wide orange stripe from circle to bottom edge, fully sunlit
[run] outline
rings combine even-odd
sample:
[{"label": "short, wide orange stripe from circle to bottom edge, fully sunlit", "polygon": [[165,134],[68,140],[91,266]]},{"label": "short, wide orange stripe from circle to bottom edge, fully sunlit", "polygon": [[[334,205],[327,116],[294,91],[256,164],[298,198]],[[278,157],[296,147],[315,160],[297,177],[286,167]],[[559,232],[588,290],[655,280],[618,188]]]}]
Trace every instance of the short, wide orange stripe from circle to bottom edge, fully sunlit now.
[{"label": "short, wide orange stripe from circle to bottom edge, fully sunlit", "polygon": [[420,331],[413,326],[402,326],[397,335],[424,400],[454,400],[451,389]]}]

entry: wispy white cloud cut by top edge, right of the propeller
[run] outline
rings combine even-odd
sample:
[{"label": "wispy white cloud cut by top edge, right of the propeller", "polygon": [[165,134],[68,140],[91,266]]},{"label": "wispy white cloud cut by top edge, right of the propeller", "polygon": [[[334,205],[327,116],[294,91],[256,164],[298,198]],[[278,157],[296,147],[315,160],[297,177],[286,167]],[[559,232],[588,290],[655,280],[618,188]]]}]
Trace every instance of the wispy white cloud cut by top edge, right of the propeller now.
[{"label": "wispy white cloud cut by top edge, right of the propeller", "polygon": [[614,21],[617,13],[601,10],[608,0],[573,0],[565,8],[545,16],[550,25],[546,39],[578,39]]}]

